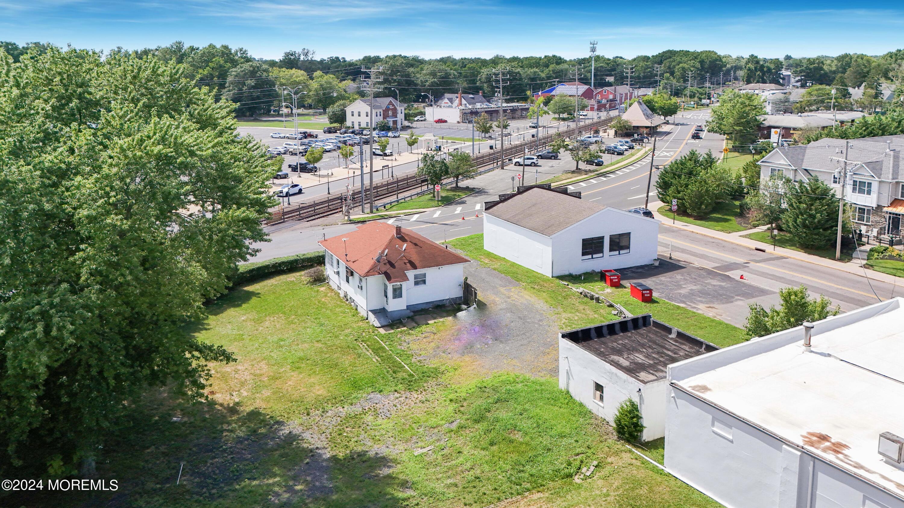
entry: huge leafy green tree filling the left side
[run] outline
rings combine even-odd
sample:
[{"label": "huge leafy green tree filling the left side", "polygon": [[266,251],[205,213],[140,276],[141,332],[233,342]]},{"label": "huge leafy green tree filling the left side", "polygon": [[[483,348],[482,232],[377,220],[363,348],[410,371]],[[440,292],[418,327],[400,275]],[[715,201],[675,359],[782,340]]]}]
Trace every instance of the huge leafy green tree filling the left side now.
[{"label": "huge leafy green tree filling the left side", "polygon": [[89,473],[146,390],[203,398],[232,359],[184,325],[266,240],[278,166],[189,71],[0,52],[0,464],[21,474]]}]

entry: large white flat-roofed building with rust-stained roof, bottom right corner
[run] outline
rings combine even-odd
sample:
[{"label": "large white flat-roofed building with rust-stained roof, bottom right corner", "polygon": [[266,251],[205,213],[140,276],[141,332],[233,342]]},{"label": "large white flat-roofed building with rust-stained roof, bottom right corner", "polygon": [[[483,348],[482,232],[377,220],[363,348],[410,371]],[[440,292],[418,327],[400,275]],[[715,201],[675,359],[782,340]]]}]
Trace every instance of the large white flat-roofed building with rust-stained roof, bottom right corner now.
[{"label": "large white flat-roofed building with rust-stained roof, bottom right corner", "polygon": [[665,467],[729,508],[904,507],[902,304],[670,365]]}]

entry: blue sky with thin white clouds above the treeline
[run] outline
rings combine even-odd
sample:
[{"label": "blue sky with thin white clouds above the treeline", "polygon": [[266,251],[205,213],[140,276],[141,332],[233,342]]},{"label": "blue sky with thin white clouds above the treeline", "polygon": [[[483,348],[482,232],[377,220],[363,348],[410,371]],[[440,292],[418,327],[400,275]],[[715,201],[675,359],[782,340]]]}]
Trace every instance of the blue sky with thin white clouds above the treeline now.
[{"label": "blue sky with thin white clouds above the treeline", "polygon": [[[666,49],[766,57],[880,54],[904,48],[904,2],[710,0],[615,3],[536,0],[0,0],[0,40],[138,49],[175,40],[226,43],[279,58],[494,54],[631,58]],[[869,5],[869,6],[866,6]]]}]

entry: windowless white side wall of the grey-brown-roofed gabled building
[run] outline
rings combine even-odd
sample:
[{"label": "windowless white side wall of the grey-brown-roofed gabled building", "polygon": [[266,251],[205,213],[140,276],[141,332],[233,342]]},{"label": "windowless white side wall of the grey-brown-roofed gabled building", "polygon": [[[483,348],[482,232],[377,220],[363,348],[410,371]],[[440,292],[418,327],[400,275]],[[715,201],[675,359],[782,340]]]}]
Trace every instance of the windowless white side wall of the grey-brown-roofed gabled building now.
[{"label": "windowless white side wall of the grey-brown-roofed gabled building", "polygon": [[543,275],[552,276],[552,240],[484,213],[484,249]]}]

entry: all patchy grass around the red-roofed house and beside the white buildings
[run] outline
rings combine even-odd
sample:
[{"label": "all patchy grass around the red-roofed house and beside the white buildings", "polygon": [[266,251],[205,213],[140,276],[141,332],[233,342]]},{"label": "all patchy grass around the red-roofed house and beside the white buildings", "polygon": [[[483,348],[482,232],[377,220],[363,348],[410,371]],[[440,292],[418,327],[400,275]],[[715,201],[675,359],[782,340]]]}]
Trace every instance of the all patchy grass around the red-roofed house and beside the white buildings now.
[{"label": "all patchy grass around the red-roofed house and beside the white buildings", "polygon": [[[484,251],[479,235],[450,243],[549,303],[563,327],[612,318]],[[630,308],[714,343],[739,340],[734,327],[663,300]],[[185,333],[236,358],[212,365],[210,400],[161,391],[135,401],[98,465],[119,490],[45,494],[42,505],[718,506],[636,456],[555,378],[500,365],[468,379],[455,362],[419,357],[412,344],[446,334],[454,318],[381,334],[301,271],[235,287],[209,312]]]}]

